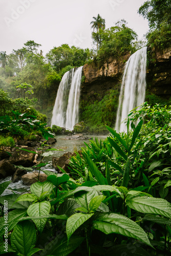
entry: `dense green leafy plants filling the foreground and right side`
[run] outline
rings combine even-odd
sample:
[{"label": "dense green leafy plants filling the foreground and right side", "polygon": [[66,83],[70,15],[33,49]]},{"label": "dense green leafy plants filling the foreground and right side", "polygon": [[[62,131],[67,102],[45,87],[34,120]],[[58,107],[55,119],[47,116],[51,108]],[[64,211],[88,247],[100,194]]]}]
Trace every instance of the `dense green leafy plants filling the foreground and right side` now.
[{"label": "dense green leafy plants filling the foreground and right side", "polygon": [[70,175],[44,170],[47,181],[31,194],[0,198],[8,201],[10,255],[170,254],[170,106],[144,103],[127,133],[106,127],[108,138],[72,157]]}]

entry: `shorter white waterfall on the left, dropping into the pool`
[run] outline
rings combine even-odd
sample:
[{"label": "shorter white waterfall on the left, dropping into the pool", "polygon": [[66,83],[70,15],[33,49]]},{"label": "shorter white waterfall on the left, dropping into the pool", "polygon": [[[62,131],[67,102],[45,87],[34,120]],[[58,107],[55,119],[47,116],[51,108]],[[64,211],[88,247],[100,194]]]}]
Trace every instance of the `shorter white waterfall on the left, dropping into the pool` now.
[{"label": "shorter white waterfall on the left, dropping into the pool", "polygon": [[53,124],[73,130],[78,122],[82,67],[66,72],[59,84],[52,113]]}]

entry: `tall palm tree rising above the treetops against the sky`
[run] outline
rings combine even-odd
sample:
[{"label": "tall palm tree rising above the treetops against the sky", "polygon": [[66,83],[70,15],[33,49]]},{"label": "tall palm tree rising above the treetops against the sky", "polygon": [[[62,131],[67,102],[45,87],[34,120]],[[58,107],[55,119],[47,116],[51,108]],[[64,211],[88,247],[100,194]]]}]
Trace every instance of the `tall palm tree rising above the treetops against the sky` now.
[{"label": "tall palm tree rising above the treetops against the sky", "polygon": [[[101,44],[101,36],[98,32],[100,29],[105,28],[105,19],[102,18],[99,14],[97,15],[97,17],[93,17],[93,19],[94,20],[92,20],[90,25],[92,24],[91,26],[91,28],[93,29],[92,37],[97,42],[97,50],[98,50],[99,42]],[[96,33],[94,32],[95,29],[96,29]]]}]

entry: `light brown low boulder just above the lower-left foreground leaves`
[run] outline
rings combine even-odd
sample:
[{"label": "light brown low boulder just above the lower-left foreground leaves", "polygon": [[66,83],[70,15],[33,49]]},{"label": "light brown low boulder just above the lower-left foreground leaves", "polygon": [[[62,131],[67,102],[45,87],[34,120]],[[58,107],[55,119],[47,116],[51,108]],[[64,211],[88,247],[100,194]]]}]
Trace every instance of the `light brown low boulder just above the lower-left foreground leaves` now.
[{"label": "light brown low boulder just above the lower-left foreground leaves", "polygon": [[[40,182],[44,182],[47,180],[47,175],[46,174],[41,174],[39,175],[39,181]],[[23,183],[25,185],[31,185],[35,182],[37,182],[37,178],[38,178],[38,172],[33,172],[33,173],[27,173],[25,175],[22,176],[22,180]]]}]

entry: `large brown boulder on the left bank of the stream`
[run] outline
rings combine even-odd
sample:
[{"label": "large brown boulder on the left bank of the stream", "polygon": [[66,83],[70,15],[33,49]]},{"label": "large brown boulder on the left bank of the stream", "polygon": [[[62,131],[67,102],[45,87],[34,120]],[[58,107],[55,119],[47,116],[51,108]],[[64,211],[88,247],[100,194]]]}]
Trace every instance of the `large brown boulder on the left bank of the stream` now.
[{"label": "large brown boulder on the left bank of the stream", "polygon": [[[34,151],[32,147],[23,146],[25,150]],[[19,148],[14,148],[12,156],[9,158],[9,162],[15,165],[23,165],[24,167],[30,167],[34,163],[35,153],[27,152]]]}]

